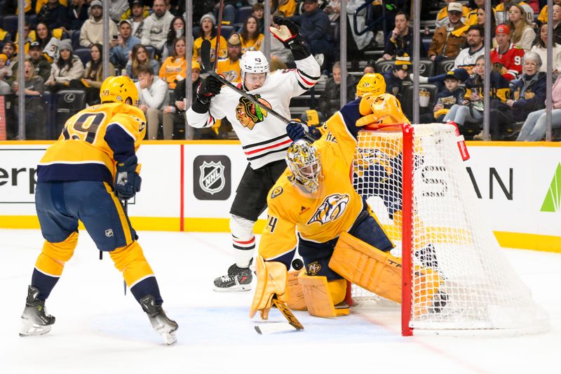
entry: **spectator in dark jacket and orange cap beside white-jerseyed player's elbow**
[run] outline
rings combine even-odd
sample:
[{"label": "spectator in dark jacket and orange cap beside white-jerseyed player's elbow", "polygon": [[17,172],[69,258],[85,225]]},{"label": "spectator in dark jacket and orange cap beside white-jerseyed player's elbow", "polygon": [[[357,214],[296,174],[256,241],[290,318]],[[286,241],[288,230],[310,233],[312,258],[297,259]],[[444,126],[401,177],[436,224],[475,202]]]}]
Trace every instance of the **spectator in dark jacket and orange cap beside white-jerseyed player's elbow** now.
[{"label": "spectator in dark jacket and orange cap beside white-jerseyed player's elbow", "polygon": [[[173,89],[173,103],[163,109],[163,139],[169,140],[173,138],[174,123],[185,124],[185,111],[187,105],[185,103],[185,84],[187,79],[177,82]],[[193,98],[196,96],[198,85],[201,84],[201,65],[196,61],[191,61],[191,90]],[[172,126],[170,126],[170,123]],[[194,129],[198,130],[198,129]],[[205,129],[206,130],[206,129]]]}]

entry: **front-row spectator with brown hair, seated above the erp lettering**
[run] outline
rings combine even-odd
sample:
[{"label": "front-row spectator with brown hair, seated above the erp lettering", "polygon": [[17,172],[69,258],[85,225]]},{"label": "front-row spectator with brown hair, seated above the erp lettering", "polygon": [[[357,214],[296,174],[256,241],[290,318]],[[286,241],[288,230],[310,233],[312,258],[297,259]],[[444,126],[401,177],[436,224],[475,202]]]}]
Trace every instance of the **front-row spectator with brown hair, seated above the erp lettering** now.
[{"label": "front-row spectator with brown hair, seated above the erp lettering", "polygon": [[[17,77],[13,81],[12,89],[16,95],[20,92],[20,82]],[[35,67],[29,60],[24,62],[24,80],[25,80],[25,139],[26,140],[44,140],[46,139],[45,127],[45,107],[42,100],[43,92],[45,92],[45,81],[41,76],[35,74]],[[18,102],[18,101],[16,101]],[[18,108],[15,112],[19,113]]]}]

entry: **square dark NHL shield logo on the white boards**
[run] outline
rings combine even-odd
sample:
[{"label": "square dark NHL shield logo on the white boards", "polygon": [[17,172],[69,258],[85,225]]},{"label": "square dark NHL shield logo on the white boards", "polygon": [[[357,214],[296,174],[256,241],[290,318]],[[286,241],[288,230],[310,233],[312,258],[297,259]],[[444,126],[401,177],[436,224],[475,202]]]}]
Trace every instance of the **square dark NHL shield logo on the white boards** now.
[{"label": "square dark NHL shield logo on the white boards", "polygon": [[231,193],[231,161],[225,155],[201,155],[193,161],[193,192],[198,200],[227,200]]}]

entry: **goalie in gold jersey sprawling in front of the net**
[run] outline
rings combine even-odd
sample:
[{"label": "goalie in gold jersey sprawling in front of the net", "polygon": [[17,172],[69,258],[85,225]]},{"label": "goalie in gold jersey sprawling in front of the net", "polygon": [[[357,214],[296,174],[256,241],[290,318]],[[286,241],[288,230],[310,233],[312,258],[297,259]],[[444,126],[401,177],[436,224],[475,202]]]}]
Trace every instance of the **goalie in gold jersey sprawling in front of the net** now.
[{"label": "goalie in gold jersey sprawling in front of the net", "polygon": [[[349,178],[360,128],[407,120],[399,102],[384,97],[384,91],[377,91],[380,88],[383,79],[376,77],[370,93],[327,120],[325,133],[313,144],[304,139],[305,125],[288,124],[287,132],[295,141],[288,148],[288,169],[267,199],[251,317],[260,312],[267,319],[273,298],[292,309],[307,309],[313,316],[349,314],[344,302],[346,281],[401,302],[401,260],[391,255],[393,243]],[[381,103],[386,105],[384,112]],[[305,268],[288,273],[296,247]],[[431,285],[414,290],[427,301],[424,312],[439,312],[445,301],[436,295],[438,272],[417,270]]]}]

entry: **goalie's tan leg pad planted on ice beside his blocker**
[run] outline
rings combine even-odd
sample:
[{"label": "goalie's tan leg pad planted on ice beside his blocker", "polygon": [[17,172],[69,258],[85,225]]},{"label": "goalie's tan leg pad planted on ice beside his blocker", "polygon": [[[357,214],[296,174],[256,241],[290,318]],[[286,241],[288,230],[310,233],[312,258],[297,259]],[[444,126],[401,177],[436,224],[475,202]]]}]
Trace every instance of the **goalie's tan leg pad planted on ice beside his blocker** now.
[{"label": "goalie's tan leg pad planted on ice beside his blocker", "polygon": [[327,282],[325,276],[309,276],[304,271],[298,276],[308,312],[312,316],[332,318],[349,314],[349,308],[335,309],[334,298],[341,302],[345,297],[346,281],[337,279]]}]

